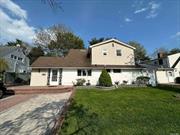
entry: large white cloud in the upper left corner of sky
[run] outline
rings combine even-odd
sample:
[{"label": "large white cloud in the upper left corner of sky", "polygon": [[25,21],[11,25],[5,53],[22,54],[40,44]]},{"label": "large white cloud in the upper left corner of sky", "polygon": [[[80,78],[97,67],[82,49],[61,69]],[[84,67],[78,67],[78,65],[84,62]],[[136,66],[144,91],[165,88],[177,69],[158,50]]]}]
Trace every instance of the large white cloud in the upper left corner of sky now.
[{"label": "large white cloud in the upper left corner of sky", "polygon": [[[26,11],[10,0],[6,0],[6,2],[5,0],[0,0],[0,41],[5,43],[18,38],[32,43],[35,28],[27,24]],[[8,9],[9,12],[3,10],[4,8]],[[14,15],[13,17],[11,16],[12,14]]]}]

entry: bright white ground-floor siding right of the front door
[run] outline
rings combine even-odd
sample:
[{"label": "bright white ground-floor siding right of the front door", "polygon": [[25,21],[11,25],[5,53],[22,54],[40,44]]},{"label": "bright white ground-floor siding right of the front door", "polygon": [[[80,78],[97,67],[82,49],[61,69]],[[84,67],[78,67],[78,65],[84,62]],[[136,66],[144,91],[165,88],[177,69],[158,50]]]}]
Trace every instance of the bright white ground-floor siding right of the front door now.
[{"label": "bright white ground-floor siding right of the front door", "polygon": [[[101,69],[92,69],[92,75],[91,76],[77,76],[77,69],[63,69],[62,71],[62,85],[73,85],[73,83],[76,83],[76,79],[85,79],[86,82],[88,80],[90,81],[91,85],[97,85],[98,79],[101,74]],[[128,84],[131,84],[133,81],[136,80],[138,76],[149,76],[152,79],[152,82],[154,83],[154,75],[152,74],[146,74],[145,72],[142,72],[138,69],[122,69],[121,73],[113,73],[113,70],[109,73],[112,79],[112,83],[114,84],[115,81],[119,81],[120,84],[123,83],[123,81],[128,81]],[[152,77],[153,76],[153,77]]]}]

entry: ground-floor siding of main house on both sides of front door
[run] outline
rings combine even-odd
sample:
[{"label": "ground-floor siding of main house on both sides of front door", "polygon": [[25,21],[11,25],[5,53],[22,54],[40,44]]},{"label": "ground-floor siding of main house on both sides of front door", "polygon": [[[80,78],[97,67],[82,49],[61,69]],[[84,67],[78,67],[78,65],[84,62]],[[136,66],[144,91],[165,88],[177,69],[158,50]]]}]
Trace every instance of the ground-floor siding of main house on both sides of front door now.
[{"label": "ground-floor siding of main house on both sides of front door", "polygon": [[[80,69],[80,68],[79,68]],[[83,69],[83,68],[81,68]],[[91,85],[97,85],[99,76],[101,74],[101,69],[92,69],[91,76],[78,76],[77,69],[62,69],[62,85],[73,85],[76,83],[76,79],[85,79],[86,82],[91,83]],[[111,69],[109,73],[114,84],[116,81],[119,81],[120,84],[123,81],[127,81],[128,84],[132,84],[133,81],[136,81],[138,76],[149,76],[150,83],[153,85],[155,83],[155,76],[153,73],[145,72],[140,69],[121,69],[121,73],[114,73]],[[31,86],[46,86],[48,78],[48,69],[33,69],[31,72]]]}]

